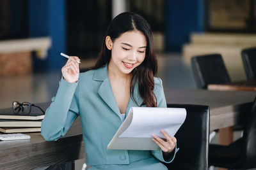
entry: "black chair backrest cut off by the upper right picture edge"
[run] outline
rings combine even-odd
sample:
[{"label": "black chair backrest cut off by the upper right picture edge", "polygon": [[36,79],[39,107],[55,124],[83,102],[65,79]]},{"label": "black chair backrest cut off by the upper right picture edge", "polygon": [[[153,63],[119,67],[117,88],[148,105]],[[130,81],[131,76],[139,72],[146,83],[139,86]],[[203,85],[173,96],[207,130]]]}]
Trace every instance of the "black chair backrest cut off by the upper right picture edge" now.
[{"label": "black chair backrest cut off by the upper right picture edge", "polygon": [[244,70],[248,80],[256,78],[256,47],[241,52]]}]

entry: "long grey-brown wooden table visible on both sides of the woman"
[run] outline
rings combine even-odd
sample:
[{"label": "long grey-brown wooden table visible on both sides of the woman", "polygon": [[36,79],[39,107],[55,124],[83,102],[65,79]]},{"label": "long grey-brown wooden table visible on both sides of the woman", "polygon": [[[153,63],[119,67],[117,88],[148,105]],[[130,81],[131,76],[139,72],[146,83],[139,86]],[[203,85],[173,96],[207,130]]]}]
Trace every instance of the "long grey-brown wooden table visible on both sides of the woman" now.
[{"label": "long grey-brown wooden table visible on both sides of the woman", "polygon": [[[210,90],[164,89],[164,93],[167,103],[209,106],[211,130],[237,124],[256,96],[256,92]],[[49,103],[38,105],[46,109]],[[47,142],[40,133],[30,135],[30,140],[0,141],[0,169],[34,169],[85,157],[79,117],[58,141]]]}]

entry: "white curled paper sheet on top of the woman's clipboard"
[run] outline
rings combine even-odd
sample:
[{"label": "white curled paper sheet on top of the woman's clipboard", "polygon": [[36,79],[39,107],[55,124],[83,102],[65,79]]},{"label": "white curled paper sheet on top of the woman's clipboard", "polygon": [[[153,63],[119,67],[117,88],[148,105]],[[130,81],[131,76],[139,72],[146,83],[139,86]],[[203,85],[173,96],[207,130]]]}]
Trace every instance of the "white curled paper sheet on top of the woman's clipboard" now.
[{"label": "white curled paper sheet on top of the woman's clipboard", "polygon": [[[130,115],[130,112],[133,113]],[[164,138],[161,130],[173,137],[186,118],[184,108],[132,107],[129,111],[132,122],[119,138],[152,138],[156,134]]]}]

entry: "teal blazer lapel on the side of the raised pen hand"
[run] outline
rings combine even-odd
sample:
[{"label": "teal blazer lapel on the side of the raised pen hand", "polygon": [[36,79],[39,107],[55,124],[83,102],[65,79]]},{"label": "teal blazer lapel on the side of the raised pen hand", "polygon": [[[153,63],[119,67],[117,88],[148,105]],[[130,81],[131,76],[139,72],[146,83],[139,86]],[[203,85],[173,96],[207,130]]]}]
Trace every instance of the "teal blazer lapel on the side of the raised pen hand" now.
[{"label": "teal blazer lapel on the side of the raised pen hand", "polygon": [[121,118],[120,110],[116,104],[115,96],[113,94],[111,84],[108,78],[108,64],[95,71],[93,80],[102,81],[98,89],[99,96],[106,104],[108,104],[109,108],[111,108],[111,110],[113,110],[116,115]]}]

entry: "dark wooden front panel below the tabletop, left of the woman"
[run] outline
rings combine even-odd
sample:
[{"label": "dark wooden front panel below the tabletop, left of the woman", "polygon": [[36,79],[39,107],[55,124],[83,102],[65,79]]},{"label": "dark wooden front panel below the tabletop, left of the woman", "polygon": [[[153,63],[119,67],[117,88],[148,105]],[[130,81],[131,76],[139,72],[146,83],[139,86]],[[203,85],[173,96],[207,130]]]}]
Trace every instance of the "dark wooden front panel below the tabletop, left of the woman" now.
[{"label": "dark wooden front panel below the tabletop, left of the woman", "polygon": [[[33,138],[33,136],[31,136]],[[0,150],[3,169],[33,169],[85,157],[82,135]],[[0,169],[1,169],[0,168]]]}]

